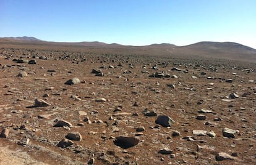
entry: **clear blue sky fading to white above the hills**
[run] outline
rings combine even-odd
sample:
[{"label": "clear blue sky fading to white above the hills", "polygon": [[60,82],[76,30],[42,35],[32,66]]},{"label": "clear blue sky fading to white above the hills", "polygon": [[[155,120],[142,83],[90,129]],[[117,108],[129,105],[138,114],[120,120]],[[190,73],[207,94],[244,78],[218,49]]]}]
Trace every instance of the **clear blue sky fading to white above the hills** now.
[{"label": "clear blue sky fading to white above the hills", "polygon": [[0,0],[0,37],[256,49],[256,0]]}]

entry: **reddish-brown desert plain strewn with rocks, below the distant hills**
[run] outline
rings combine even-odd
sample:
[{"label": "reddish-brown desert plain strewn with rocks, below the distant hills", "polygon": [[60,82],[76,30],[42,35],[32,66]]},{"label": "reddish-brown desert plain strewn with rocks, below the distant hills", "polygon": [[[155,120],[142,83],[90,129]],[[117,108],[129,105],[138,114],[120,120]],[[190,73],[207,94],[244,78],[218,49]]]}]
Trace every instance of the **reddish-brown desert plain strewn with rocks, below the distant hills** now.
[{"label": "reddish-brown desert plain strewn with rocks, below the distant hills", "polygon": [[0,164],[256,164],[256,64],[0,50]]}]

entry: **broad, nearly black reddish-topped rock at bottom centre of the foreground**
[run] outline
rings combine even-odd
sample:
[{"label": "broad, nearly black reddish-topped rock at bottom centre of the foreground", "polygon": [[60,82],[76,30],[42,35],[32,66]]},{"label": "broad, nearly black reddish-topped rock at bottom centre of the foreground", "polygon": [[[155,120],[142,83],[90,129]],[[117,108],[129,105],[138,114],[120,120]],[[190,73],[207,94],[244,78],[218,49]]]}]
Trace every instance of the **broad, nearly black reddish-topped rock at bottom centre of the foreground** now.
[{"label": "broad, nearly black reddish-topped rock at bottom centre of the foreground", "polygon": [[114,144],[121,148],[130,148],[130,147],[134,147],[139,142],[140,142],[140,139],[138,139],[137,137],[119,136],[119,137],[116,137]]}]

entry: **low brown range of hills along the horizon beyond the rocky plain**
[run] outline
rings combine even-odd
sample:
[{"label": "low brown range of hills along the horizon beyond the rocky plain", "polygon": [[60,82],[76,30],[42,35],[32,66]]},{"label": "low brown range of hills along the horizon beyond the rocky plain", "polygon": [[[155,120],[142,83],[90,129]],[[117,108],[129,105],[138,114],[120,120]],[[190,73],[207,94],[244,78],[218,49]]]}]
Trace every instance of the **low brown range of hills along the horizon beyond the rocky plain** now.
[{"label": "low brown range of hills along the horizon beyond the rocky plain", "polygon": [[26,49],[56,49],[92,54],[136,54],[171,56],[177,58],[219,58],[256,63],[256,50],[235,42],[197,42],[187,46],[151,44],[148,46],[124,46],[104,42],[48,42],[33,37],[0,38],[1,47]]}]

